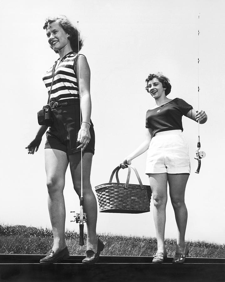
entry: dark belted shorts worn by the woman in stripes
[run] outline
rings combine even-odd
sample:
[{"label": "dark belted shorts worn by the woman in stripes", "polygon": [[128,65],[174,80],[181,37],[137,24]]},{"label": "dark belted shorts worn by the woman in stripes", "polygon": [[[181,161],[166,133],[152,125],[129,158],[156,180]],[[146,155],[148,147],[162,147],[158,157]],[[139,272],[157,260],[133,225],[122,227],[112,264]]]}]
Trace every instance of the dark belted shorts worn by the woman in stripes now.
[{"label": "dark belted shorts worn by the woman in stripes", "polygon": [[[77,137],[80,130],[80,103],[79,99],[60,100],[60,102],[68,102],[66,106],[52,108],[53,125],[46,132],[45,149],[57,149],[64,151],[67,155],[80,152],[77,150]],[[72,105],[71,105],[72,104]],[[91,139],[84,150],[94,155],[95,153],[95,132],[92,121],[90,121]]]}]

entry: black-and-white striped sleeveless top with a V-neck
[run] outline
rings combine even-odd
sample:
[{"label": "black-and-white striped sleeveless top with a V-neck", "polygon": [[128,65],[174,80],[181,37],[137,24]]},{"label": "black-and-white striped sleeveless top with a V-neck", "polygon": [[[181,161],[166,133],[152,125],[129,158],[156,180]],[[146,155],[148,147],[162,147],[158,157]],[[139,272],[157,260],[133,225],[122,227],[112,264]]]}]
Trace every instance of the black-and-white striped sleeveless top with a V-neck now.
[{"label": "black-and-white striped sleeveless top with a V-neck", "polygon": [[[76,57],[77,54],[75,52],[69,52],[60,60],[58,67],[55,69],[50,102],[64,99],[79,99],[77,76],[74,71]],[[52,84],[52,69],[53,66],[43,76],[48,93]]]}]

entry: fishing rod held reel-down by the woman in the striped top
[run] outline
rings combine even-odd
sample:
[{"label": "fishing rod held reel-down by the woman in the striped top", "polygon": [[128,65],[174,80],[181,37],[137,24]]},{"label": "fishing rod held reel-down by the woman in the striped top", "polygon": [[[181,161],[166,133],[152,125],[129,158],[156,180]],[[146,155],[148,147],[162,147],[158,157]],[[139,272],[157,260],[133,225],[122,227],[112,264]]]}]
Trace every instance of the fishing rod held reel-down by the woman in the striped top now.
[{"label": "fishing rod held reel-down by the woman in the striped top", "polygon": [[[79,53],[79,21],[77,21],[77,34],[78,34],[78,66],[79,66],[79,97],[80,97],[80,128],[82,123],[81,117],[81,91],[80,91],[80,53]],[[80,213],[74,215],[75,220],[71,220],[70,222],[79,223],[79,245],[84,246],[84,222],[87,222],[87,214],[84,212],[84,198],[83,198],[83,154],[82,148],[80,150],[81,153],[81,192],[80,192]],[[75,212],[74,212],[75,213]]]}]

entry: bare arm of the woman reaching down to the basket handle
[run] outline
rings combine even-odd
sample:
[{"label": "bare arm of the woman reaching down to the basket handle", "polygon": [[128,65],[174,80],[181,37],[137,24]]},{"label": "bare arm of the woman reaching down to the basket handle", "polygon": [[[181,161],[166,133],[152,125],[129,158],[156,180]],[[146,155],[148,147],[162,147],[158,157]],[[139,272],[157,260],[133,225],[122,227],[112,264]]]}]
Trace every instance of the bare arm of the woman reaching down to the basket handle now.
[{"label": "bare arm of the woman reaching down to the basket handle", "polygon": [[149,147],[152,135],[153,135],[152,129],[151,128],[146,128],[145,141],[142,142],[141,145],[135,151],[133,151],[131,154],[129,154],[123,160],[123,162],[120,163],[119,166],[124,169],[124,168],[126,168],[126,166],[124,164],[130,165],[132,159],[135,159],[136,157],[138,157],[141,154],[143,154],[148,149],[148,147]]}]

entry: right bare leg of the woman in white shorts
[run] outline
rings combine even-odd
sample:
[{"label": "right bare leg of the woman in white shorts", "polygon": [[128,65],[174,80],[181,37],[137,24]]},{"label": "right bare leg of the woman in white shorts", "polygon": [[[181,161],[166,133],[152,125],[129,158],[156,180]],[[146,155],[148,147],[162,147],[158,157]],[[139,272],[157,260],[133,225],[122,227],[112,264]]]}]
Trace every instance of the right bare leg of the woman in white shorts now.
[{"label": "right bare leg of the woman in white shorts", "polygon": [[185,251],[185,231],[187,226],[187,208],[184,202],[185,188],[189,174],[168,174],[168,183],[170,187],[170,198],[174,209],[178,237],[176,252]]}]

